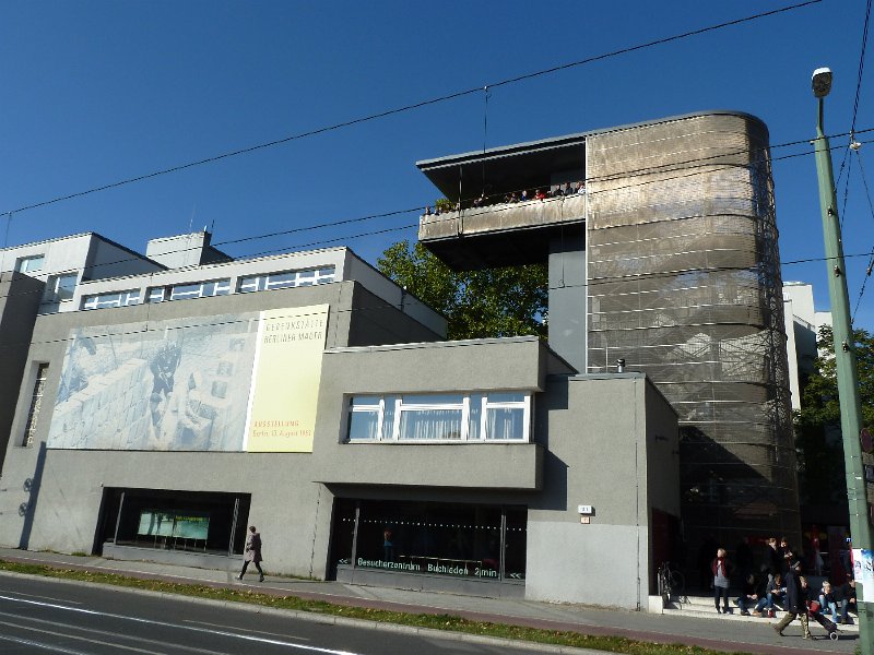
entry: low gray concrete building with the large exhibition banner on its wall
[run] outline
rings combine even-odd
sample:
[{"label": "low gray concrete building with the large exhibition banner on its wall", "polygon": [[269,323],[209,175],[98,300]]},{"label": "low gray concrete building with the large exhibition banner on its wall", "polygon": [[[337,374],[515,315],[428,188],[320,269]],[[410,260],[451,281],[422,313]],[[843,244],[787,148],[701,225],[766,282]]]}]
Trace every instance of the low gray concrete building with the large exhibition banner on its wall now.
[{"label": "low gray concrete building with the large exhibition banner on its wall", "polygon": [[232,260],[200,235],[63,311],[0,306],[1,544],[236,569],[253,524],[274,573],[650,608],[678,444],[642,372],[442,341],[345,248]]}]

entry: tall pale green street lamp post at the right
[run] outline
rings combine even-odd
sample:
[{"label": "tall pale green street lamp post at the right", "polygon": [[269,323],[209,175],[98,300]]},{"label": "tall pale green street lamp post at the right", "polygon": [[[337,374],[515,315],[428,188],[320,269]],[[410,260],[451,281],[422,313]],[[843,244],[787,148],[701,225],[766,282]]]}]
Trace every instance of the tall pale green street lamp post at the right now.
[{"label": "tall pale green street lamp post at the right", "polygon": [[[850,298],[847,294],[847,276],[843,265],[838,202],[835,194],[835,176],[831,171],[831,153],[823,129],[824,98],[831,91],[831,71],[817,69],[813,73],[813,94],[817,98],[818,114],[816,140],[816,174],[819,181],[819,207],[823,213],[823,233],[828,267],[828,296],[831,301],[832,332],[835,334],[835,364],[840,401],[840,428],[843,440],[843,465],[847,476],[847,496],[850,509],[850,535],[853,548],[870,549],[872,545],[869,507],[865,498],[865,478],[862,467],[862,448],[859,441],[862,431],[862,402],[859,396],[859,372],[855,360],[855,340],[850,318]],[[831,546],[829,546],[831,547]],[[860,587],[862,588],[862,587]],[[859,611],[859,642],[862,655],[872,655],[872,603],[863,603],[861,596],[871,590],[862,588],[857,602]]]}]

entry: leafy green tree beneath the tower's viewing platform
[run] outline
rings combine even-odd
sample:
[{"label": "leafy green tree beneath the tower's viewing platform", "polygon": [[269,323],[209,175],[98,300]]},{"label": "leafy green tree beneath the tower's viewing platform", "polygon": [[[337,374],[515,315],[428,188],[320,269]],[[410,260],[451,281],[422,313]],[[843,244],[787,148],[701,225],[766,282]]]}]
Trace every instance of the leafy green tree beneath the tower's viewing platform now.
[{"label": "leafy green tree beneath the tower's viewing platform", "polygon": [[546,336],[545,264],[454,272],[422,243],[386,249],[377,267],[449,322],[450,340]]}]

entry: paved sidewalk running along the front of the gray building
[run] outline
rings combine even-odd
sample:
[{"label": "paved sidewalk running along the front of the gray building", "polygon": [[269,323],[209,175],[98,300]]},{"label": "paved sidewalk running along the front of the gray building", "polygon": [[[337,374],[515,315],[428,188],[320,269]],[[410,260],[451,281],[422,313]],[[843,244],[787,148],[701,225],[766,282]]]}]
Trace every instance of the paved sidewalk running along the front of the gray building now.
[{"label": "paved sidewalk running along the front of the gray building", "polygon": [[0,548],[0,559],[10,562],[46,564],[130,577],[162,580],[214,587],[246,587],[264,594],[294,595],[336,605],[369,607],[412,614],[451,614],[476,621],[510,623],[546,630],[569,630],[588,634],[611,634],[648,642],[682,643],[713,650],[768,655],[852,653],[859,643],[858,632],[841,631],[841,639],[830,641],[818,626],[811,626],[813,642],[801,639],[801,627],[794,622],[778,636],[771,626],[776,620],[740,621],[712,617],[651,615],[626,610],[609,610],[578,605],[538,603],[521,599],[479,598],[454,594],[368,587],[338,582],[293,580],[267,575],[258,582],[258,573],[249,571],[243,582],[238,570],[220,571],[162,564],[155,562],[109,560],[99,557],[75,557],[55,552],[31,552]]}]

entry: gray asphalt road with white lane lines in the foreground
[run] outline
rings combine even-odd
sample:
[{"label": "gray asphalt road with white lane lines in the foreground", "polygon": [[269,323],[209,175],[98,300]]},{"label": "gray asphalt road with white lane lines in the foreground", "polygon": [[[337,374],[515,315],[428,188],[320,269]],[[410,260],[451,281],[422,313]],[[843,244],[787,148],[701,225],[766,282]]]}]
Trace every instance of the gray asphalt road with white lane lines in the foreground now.
[{"label": "gray asphalt road with white lane lines in the foreground", "polygon": [[488,655],[528,653],[93,585],[0,575],[0,653]]}]

